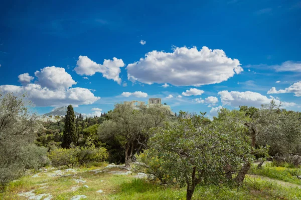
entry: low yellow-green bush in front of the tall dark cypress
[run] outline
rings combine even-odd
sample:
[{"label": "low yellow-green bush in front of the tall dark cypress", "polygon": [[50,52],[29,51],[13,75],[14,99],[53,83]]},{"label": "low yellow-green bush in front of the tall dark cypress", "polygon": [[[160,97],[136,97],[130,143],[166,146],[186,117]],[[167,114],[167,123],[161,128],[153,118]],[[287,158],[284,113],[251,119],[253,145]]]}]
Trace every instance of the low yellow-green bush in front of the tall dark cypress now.
[{"label": "low yellow-green bush in front of the tall dark cypress", "polygon": [[101,162],[108,158],[107,150],[95,146],[57,148],[48,154],[52,165],[75,167],[89,162]]}]

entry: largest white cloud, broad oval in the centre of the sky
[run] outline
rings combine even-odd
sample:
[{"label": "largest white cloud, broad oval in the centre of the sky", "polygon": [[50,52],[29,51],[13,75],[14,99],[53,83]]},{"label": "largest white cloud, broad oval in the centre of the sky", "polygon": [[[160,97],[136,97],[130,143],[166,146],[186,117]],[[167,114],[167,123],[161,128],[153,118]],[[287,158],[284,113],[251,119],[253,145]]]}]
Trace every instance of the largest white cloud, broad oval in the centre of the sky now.
[{"label": "largest white cloud, broad oval in the centre of the sky", "polygon": [[169,82],[173,85],[219,83],[243,71],[238,59],[231,59],[221,49],[206,46],[176,47],[173,52],[151,51],[139,61],[128,64],[127,78],[147,84]]}]

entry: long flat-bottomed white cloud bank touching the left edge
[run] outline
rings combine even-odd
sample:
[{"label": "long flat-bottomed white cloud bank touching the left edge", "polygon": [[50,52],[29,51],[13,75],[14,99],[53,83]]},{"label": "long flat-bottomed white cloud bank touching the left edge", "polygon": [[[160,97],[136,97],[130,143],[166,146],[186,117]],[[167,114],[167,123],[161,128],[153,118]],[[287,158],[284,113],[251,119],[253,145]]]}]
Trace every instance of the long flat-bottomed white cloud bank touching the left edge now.
[{"label": "long flat-bottomed white cloud bank touching the left edge", "polygon": [[78,106],[82,104],[92,104],[100,99],[87,88],[74,87],[67,89],[51,90],[39,84],[27,84],[25,86],[0,85],[3,92],[27,92],[29,99],[37,106],[62,106],[72,104]]}]

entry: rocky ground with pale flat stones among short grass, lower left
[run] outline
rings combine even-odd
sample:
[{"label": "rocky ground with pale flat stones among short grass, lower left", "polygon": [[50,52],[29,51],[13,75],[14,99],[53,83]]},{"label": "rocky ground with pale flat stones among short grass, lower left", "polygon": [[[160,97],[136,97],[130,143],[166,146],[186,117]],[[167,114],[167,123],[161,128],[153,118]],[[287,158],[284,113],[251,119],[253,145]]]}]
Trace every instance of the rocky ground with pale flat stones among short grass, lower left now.
[{"label": "rocky ground with pale flat stones among short grass, lower left", "polygon": [[22,191],[18,191],[17,196],[18,199],[34,200],[78,200],[87,197],[89,199],[106,199],[106,194],[116,191],[114,181],[120,177],[126,180],[147,178],[147,175],[133,173],[124,165],[115,165],[114,163],[93,169],[41,168],[39,172],[25,177],[27,181],[35,184],[30,187],[25,186]]}]

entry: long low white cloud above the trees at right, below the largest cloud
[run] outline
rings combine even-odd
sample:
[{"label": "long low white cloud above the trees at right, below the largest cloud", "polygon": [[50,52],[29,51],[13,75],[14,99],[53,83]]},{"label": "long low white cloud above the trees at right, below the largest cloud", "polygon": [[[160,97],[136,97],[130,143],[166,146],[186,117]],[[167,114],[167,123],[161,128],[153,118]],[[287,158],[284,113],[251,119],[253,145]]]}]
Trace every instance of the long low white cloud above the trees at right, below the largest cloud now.
[{"label": "long low white cloud above the trees at right, below the largest cloud", "polygon": [[[230,105],[233,107],[238,107],[239,105],[247,105],[260,107],[261,104],[268,104],[272,100],[272,98],[268,98],[260,93],[253,91],[227,91],[223,90],[218,92],[221,98],[221,102],[223,105]],[[276,104],[280,103],[280,100],[274,99]],[[294,102],[281,102],[283,107],[294,106],[296,103]]]}]

